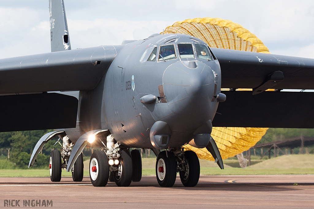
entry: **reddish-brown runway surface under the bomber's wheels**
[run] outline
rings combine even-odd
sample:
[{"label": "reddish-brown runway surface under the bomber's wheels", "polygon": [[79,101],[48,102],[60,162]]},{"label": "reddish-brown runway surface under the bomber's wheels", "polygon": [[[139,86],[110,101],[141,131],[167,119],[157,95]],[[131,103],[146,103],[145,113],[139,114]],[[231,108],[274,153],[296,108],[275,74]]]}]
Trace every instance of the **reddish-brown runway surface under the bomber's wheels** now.
[{"label": "reddish-brown runway surface under the bomber's wheels", "polygon": [[33,205],[52,200],[53,208],[66,209],[314,208],[314,175],[201,176],[192,188],[184,187],[179,177],[171,188],[160,187],[155,176],[143,176],[129,187],[114,182],[94,187],[89,177],[82,182],[62,177],[58,183],[49,177],[0,177],[0,208],[8,208],[6,200],[14,205],[20,200],[20,207],[23,200],[34,200]]}]

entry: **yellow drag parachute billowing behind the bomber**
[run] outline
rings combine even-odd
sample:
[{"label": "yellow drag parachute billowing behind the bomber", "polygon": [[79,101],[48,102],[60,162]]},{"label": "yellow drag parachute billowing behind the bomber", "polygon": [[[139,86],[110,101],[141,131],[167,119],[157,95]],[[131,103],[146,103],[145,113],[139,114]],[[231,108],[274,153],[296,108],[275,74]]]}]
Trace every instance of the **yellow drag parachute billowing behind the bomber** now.
[{"label": "yellow drag parachute billowing behind the bomber", "polygon": [[[254,34],[241,25],[221,18],[195,18],[168,26],[164,34],[187,34],[201,39],[210,47],[269,53],[268,48]],[[222,89],[229,90],[229,89]],[[252,91],[252,89],[237,89]],[[268,128],[213,127],[214,138],[222,159],[233,157],[254,146]],[[199,158],[214,161],[206,148],[198,149],[184,145],[186,150],[194,151]]]}]

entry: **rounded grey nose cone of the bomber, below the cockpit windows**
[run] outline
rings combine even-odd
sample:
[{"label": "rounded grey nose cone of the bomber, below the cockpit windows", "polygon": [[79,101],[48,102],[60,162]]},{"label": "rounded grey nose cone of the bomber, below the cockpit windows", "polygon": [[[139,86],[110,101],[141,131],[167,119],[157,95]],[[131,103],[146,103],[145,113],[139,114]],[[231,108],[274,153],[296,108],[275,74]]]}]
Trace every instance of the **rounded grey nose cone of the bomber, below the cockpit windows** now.
[{"label": "rounded grey nose cone of the bomber, below the cockpit windows", "polygon": [[189,131],[214,117],[215,91],[212,69],[200,61],[176,62],[164,72],[163,87],[174,131]]}]

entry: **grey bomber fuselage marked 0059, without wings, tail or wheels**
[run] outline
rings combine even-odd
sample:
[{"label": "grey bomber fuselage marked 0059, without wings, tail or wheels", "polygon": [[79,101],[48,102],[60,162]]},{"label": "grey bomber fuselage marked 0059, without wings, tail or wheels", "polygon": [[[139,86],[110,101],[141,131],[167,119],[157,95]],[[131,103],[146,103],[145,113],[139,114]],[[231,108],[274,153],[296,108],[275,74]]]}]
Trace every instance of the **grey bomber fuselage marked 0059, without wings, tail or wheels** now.
[{"label": "grey bomber fuselage marked 0059, without wings, tail or wheels", "polygon": [[[179,52],[178,44],[192,44],[193,55]],[[219,103],[214,96],[221,88],[218,60],[205,59],[196,44],[208,48],[182,34],[156,35],[116,47],[117,55],[97,87],[79,92],[77,127],[66,129],[69,138],[75,142],[90,130],[109,129],[122,146],[153,148],[149,129],[163,121],[171,128],[170,148],[187,144],[195,130],[214,119]],[[160,47],[171,45],[175,55],[164,59]],[[155,60],[149,61],[155,48]],[[140,102],[149,94],[156,96],[155,102]]]}]

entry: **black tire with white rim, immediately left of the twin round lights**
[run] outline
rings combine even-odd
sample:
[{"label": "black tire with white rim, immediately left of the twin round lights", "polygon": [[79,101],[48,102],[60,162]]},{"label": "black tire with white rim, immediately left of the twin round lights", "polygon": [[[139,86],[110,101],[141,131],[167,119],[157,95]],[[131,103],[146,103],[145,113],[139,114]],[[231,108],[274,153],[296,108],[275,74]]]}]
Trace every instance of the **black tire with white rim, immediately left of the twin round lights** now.
[{"label": "black tire with white rim, immediately left of the twin round lights", "polygon": [[[93,167],[96,167],[93,170]],[[96,150],[89,160],[89,178],[93,186],[106,186],[109,178],[108,157],[104,151]]]}]

